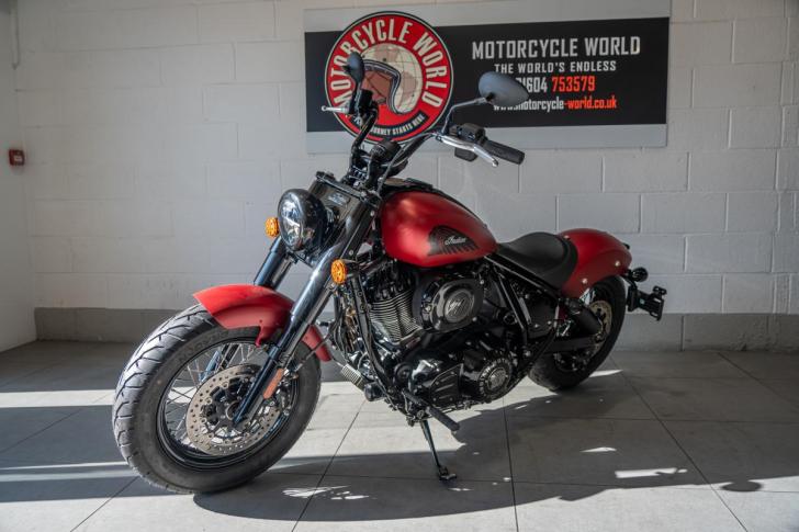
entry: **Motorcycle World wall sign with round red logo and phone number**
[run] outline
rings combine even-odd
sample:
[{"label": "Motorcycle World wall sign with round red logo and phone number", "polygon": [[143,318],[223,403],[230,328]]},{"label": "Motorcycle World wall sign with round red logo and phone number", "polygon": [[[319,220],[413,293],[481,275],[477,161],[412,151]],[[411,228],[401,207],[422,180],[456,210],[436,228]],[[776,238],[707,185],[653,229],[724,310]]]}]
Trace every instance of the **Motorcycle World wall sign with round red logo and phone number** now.
[{"label": "Motorcycle World wall sign with round red logo and phone number", "polygon": [[364,87],[383,101],[372,139],[404,142],[434,127],[450,103],[476,95],[483,72],[496,70],[521,81],[530,100],[463,110],[458,120],[491,128],[497,140],[522,148],[664,146],[669,1],[555,5],[562,9],[539,0],[307,11],[308,150],[346,149],[357,132],[349,118],[319,110],[351,97],[341,66],[352,50],[363,56]]}]

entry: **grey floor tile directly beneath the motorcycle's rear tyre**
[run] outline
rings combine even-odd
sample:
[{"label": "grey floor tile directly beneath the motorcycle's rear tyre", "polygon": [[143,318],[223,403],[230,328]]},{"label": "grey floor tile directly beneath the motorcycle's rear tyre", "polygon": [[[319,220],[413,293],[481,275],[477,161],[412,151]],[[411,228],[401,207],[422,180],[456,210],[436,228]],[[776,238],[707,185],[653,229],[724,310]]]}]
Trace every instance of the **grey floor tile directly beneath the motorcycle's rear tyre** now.
[{"label": "grey floor tile directly beneath the motorcycle's rear tyre", "polygon": [[560,392],[534,385],[517,386],[504,401],[508,416],[654,419],[646,404],[618,373],[592,377]]}]

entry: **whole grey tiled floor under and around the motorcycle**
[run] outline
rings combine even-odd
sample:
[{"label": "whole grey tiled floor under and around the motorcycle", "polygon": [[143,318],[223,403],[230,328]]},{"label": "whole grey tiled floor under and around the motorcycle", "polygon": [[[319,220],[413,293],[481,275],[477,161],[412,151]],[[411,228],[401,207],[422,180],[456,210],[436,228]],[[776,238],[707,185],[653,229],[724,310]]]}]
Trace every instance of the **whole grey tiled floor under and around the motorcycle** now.
[{"label": "whole grey tiled floor under and around the motorcycle", "polygon": [[434,430],[326,382],[310,430],[224,494],[137,479],[111,437],[132,346],[0,353],[0,531],[799,531],[799,355],[617,353],[579,388],[525,382]]}]

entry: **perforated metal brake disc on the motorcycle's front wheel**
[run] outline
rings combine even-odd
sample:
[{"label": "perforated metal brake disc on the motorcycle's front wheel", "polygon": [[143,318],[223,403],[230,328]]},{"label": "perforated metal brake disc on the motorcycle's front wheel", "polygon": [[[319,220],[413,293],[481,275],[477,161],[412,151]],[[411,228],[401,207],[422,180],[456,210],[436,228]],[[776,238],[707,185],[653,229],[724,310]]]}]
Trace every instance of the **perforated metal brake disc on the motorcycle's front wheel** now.
[{"label": "perforated metal brake disc on the motorcycle's front wheel", "polygon": [[254,364],[235,365],[212,375],[200,386],[185,414],[189,441],[198,450],[214,456],[234,454],[249,449],[269,432],[280,410],[268,405],[246,426],[236,428],[233,423],[258,370]]}]

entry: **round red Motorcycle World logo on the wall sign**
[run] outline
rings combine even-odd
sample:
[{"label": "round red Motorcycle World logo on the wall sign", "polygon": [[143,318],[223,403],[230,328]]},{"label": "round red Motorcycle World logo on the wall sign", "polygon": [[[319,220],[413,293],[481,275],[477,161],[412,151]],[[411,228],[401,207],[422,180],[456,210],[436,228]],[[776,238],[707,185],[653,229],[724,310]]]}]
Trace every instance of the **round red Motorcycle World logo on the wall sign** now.
[{"label": "round red Motorcycle World logo on the wall sign", "polygon": [[[382,12],[350,25],[336,41],[325,66],[325,91],[333,106],[346,105],[355,82],[344,70],[347,56],[363,57],[362,88],[380,103],[370,140],[403,142],[431,127],[452,93],[452,60],[441,37],[424,21],[405,13]],[[352,135],[360,126],[336,115]]]}]

